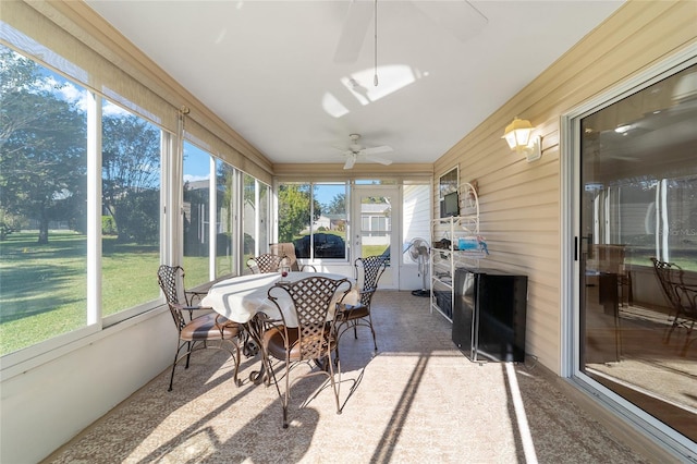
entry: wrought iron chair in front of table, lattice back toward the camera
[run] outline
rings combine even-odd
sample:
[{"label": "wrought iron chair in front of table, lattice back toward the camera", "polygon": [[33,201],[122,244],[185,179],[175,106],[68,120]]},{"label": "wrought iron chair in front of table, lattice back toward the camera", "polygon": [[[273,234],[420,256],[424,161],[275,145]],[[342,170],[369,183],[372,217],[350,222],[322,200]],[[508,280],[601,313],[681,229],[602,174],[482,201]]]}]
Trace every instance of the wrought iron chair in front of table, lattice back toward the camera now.
[{"label": "wrought iron chair in front of table, lattice back toward the camera", "polygon": [[[323,276],[313,276],[295,282],[279,282],[269,289],[268,297],[278,307],[281,318],[272,320],[264,314],[259,315],[264,320],[261,343],[268,371],[273,378],[283,405],[283,428],[288,428],[290,389],[296,381],[306,377],[327,376],[329,378],[337,403],[337,414],[341,414],[339,405],[341,364],[338,358],[337,333],[330,309],[350,290],[348,279],[334,280]],[[279,304],[279,301],[288,302],[288,297],[292,301],[292,313],[284,314],[282,308],[284,305]],[[292,316],[296,321],[291,320]],[[334,363],[331,359],[332,352],[337,355]],[[283,377],[277,378],[271,365],[272,358],[284,364],[285,391],[283,393],[279,386],[279,380]],[[301,363],[310,365],[315,363],[321,368],[319,370],[314,368],[291,382],[291,370]],[[334,364],[339,375],[338,380],[334,379]]]}]

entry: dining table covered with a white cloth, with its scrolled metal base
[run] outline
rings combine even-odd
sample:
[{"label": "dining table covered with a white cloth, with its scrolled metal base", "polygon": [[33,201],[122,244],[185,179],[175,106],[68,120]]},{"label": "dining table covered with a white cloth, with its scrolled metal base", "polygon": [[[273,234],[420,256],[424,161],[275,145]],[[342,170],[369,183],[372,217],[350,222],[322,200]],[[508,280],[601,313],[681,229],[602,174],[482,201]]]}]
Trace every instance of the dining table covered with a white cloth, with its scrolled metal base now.
[{"label": "dining table covered with a white cloth, with its scrolled metal base", "polygon": [[[216,282],[208,290],[208,294],[201,300],[201,306],[210,307],[216,313],[229,320],[242,325],[245,329],[246,340],[243,351],[245,355],[256,355],[261,347],[261,326],[259,315],[268,319],[280,319],[283,313],[283,319],[288,327],[297,327],[297,317],[293,307],[290,295],[285,292],[274,292],[276,304],[269,300],[269,290],[278,282],[284,280],[295,282],[308,277],[326,277],[329,279],[341,280],[346,279],[345,276],[330,272],[304,272],[292,271],[286,277],[282,277],[281,272],[253,273],[245,276],[236,276],[225,280]],[[351,279],[348,279],[351,281]],[[333,319],[338,303],[357,304],[359,292],[352,285],[348,293],[343,285],[334,295],[334,300],[330,304],[328,320]],[[279,312],[280,310],[280,312]],[[265,353],[261,353],[266,357]],[[249,379],[255,383],[261,382],[264,375],[262,363],[261,370],[254,371]],[[266,377],[268,381],[268,377]]]}]

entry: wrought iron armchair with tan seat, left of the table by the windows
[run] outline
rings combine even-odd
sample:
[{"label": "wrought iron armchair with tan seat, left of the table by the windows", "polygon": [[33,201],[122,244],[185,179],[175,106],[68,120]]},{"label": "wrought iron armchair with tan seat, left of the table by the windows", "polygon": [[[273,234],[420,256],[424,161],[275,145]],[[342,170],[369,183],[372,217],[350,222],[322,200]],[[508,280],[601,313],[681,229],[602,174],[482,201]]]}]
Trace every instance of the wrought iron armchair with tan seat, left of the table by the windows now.
[{"label": "wrought iron armchair with tan seat, left of the table by the windows", "polygon": [[[242,327],[219,314],[212,313],[211,308],[192,304],[192,300],[200,296],[200,294],[184,291],[184,269],[181,266],[162,265],[158,269],[157,278],[179,331],[178,347],[174,353],[168,391],[172,391],[174,370],[179,362],[186,357],[186,366],[184,368],[188,369],[192,353],[203,349],[217,349],[229,352],[235,363],[235,384],[241,386],[242,381],[237,379],[237,370],[240,369],[239,343],[242,335]],[[184,304],[180,303],[182,298]],[[195,315],[203,312],[205,313]],[[224,342],[228,341],[234,351],[225,347]],[[209,344],[209,342],[213,343]]]}]

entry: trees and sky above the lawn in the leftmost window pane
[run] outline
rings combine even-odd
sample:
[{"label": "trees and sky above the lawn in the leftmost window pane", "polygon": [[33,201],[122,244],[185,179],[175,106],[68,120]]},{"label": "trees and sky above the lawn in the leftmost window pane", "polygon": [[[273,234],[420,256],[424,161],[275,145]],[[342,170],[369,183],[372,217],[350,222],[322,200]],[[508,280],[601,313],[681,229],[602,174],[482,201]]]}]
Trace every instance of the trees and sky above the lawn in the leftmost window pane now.
[{"label": "trees and sky above the lawn in the leftmost window pane", "polygon": [[84,203],[85,114],[32,60],[0,47],[0,62],[1,216],[36,219],[38,243],[48,243],[49,222],[76,223],[73,207]]}]

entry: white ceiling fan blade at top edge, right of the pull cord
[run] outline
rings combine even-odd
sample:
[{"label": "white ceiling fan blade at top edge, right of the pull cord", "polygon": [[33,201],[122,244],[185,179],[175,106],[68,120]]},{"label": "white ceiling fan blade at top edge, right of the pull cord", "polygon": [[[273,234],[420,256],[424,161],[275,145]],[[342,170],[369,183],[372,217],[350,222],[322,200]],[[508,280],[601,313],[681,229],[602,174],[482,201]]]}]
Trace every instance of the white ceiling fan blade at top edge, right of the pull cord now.
[{"label": "white ceiling fan blade at top edge, right of the pull cord", "polygon": [[468,1],[414,1],[413,4],[460,41],[479,34],[489,20]]}]

